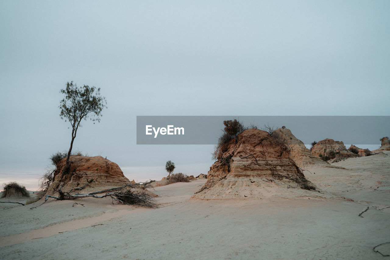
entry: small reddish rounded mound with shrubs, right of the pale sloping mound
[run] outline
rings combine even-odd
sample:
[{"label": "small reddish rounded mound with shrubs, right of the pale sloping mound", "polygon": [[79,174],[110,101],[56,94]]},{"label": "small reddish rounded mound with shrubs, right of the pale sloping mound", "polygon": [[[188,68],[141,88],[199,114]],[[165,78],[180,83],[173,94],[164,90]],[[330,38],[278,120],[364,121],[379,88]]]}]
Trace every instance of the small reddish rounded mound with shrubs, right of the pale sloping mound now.
[{"label": "small reddish rounded mound with shrubs, right of the pale sloping mound", "polygon": [[342,160],[349,157],[358,157],[359,155],[347,150],[342,141],[335,141],[326,138],[317,142],[311,149],[312,155],[317,158],[327,157],[327,160]]}]

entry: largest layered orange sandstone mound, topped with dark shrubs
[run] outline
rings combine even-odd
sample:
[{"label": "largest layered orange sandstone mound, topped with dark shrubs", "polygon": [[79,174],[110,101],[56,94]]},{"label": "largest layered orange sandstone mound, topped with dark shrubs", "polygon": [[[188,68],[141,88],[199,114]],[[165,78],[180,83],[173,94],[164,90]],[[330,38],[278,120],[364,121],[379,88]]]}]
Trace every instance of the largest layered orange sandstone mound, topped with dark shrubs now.
[{"label": "largest layered orange sandstone mound, topped with dark shrubs", "polygon": [[[220,148],[207,182],[192,198],[267,198],[290,187],[315,189],[289,157],[287,147],[267,132],[248,129]],[[275,193],[276,192],[276,193]]]}]

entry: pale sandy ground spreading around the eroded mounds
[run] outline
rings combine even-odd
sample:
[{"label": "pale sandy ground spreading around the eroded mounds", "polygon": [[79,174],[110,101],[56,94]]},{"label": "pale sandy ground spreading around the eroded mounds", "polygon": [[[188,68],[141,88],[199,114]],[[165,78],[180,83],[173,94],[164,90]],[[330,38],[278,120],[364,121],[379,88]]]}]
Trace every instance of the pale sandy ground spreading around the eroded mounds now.
[{"label": "pale sandy ground spreading around the eroded mounds", "polygon": [[[346,169],[308,168],[323,194],[301,197],[289,198],[290,188],[285,198],[190,199],[205,182],[197,180],[156,187],[157,209],[108,198],[32,210],[38,203],[0,203],[0,258],[383,259],[372,248],[390,242],[387,154],[334,164]],[[390,254],[390,244],[376,249]]]}]

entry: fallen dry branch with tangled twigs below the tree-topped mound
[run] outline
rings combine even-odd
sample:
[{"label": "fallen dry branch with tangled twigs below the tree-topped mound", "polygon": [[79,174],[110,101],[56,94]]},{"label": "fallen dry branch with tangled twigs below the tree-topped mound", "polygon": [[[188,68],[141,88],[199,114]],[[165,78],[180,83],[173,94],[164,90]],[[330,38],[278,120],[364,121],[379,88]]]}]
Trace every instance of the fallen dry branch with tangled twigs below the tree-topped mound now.
[{"label": "fallen dry branch with tangled twigs below the tree-topped mound", "polygon": [[[145,189],[148,187],[149,183],[135,183],[135,184],[127,184],[122,187],[116,187],[116,188],[111,188],[111,189],[106,189],[103,191],[96,191],[96,192],[90,192],[86,194],[70,194],[69,192],[63,192],[61,191],[61,186],[58,188],[58,190],[55,190],[58,192],[59,196],[53,196],[53,195],[46,195],[45,200],[43,201],[42,204],[44,204],[49,198],[54,198],[58,200],[65,200],[65,199],[78,199],[78,198],[87,198],[87,197],[92,197],[92,198],[105,198],[105,197],[110,197],[112,198],[113,201],[118,201],[122,204],[125,205],[139,205],[142,207],[150,207],[150,208],[157,208],[157,204],[154,202],[154,199],[149,196],[145,192]],[[139,188],[140,190],[134,191],[131,189],[134,188]],[[103,195],[96,195],[100,193],[105,193]],[[41,206],[42,204],[33,207],[37,208]],[[74,203],[74,204],[79,204],[79,203]],[[73,204],[73,205],[74,205]],[[73,207],[72,205],[72,207]],[[80,204],[82,205],[82,204]],[[30,208],[30,209],[33,209]]]}]

